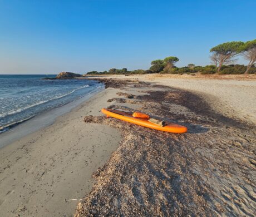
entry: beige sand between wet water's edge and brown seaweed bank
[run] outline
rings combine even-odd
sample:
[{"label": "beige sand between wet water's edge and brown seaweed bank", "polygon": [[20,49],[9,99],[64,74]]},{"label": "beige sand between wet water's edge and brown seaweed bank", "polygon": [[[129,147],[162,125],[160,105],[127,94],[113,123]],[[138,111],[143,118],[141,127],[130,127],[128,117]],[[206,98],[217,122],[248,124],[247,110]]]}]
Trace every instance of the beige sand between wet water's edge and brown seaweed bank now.
[{"label": "beige sand between wet water's edge and brown seaweed bank", "polygon": [[90,191],[92,172],[119,145],[120,133],[84,115],[99,115],[116,90],[98,93],[55,124],[0,149],[0,216],[73,216]]}]

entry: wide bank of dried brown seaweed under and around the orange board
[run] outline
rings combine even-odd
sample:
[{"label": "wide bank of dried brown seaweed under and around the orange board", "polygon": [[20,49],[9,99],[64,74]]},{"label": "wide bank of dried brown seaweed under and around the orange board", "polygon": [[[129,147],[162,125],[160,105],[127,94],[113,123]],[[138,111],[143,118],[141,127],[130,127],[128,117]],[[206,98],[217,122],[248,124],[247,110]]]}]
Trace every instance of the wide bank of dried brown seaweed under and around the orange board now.
[{"label": "wide bank of dried brown seaweed under and around the orange board", "polygon": [[[112,87],[115,82],[111,81]],[[146,95],[124,93],[133,87]],[[111,83],[109,82],[109,86]],[[107,163],[93,173],[96,182],[78,203],[75,216],[216,216],[256,211],[255,127],[224,117],[199,96],[149,83],[123,82],[112,108],[122,103],[160,119],[188,126],[169,134],[104,116],[87,123],[119,129],[122,141]],[[161,89],[161,90],[159,90]],[[129,97],[127,97],[129,96]]]}]

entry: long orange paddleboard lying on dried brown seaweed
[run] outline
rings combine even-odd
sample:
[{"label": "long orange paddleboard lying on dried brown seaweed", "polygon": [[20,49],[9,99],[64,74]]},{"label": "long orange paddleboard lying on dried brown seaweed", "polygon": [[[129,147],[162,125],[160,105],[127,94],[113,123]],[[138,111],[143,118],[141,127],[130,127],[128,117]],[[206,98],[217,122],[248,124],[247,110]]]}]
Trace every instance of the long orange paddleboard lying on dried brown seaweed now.
[{"label": "long orange paddleboard lying on dried brown seaweed", "polygon": [[137,124],[144,127],[149,127],[155,130],[173,132],[174,134],[183,134],[184,132],[188,131],[188,129],[185,126],[181,126],[173,123],[166,123],[165,126],[159,126],[157,124],[154,124],[148,121],[147,119],[140,119],[138,117],[133,117],[132,115],[127,114],[126,112],[123,112],[123,111],[102,108],[101,112],[107,116],[115,117],[116,119],[120,119],[123,121],[130,122],[132,124]]}]

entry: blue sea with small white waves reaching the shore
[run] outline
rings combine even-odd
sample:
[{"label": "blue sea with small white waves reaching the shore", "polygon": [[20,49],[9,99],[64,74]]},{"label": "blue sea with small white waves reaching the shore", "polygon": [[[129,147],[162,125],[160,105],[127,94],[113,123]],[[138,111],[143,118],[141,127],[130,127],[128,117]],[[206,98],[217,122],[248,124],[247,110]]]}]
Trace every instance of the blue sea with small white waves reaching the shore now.
[{"label": "blue sea with small white waves reaching the shore", "polygon": [[0,75],[0,134],[42,112],[104,88],[85,79],[45,80],[56,75]]}]

